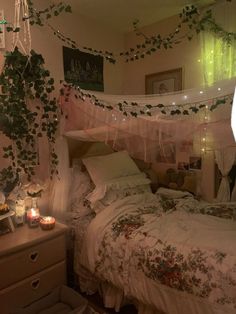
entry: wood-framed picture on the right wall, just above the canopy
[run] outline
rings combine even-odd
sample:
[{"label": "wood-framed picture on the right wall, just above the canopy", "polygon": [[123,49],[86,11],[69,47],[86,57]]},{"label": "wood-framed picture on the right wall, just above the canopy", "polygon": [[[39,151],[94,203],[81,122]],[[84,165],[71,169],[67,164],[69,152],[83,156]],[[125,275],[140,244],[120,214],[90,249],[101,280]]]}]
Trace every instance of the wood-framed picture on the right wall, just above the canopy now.
[{"label": "wood-framed picture on the right wall, just above the canopy", "polygon": [[164,94],[182,89],[182,68],[146,75],[146,94]]}]

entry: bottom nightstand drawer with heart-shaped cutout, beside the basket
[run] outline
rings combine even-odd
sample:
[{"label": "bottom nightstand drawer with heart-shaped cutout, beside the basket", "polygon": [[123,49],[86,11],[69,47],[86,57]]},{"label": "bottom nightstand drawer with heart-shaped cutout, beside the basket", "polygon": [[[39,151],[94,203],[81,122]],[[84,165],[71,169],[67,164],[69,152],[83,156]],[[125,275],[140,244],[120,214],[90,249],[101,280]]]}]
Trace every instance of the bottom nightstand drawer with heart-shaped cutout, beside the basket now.
[{"label": "bottom nightstand drawer with heart-shaped cutout, beside the basket", "polygon": [[60,262],[44,271],[0,290],[1,314],[13,313],[50,293],[54,288],[66,283],[65,262]]}]

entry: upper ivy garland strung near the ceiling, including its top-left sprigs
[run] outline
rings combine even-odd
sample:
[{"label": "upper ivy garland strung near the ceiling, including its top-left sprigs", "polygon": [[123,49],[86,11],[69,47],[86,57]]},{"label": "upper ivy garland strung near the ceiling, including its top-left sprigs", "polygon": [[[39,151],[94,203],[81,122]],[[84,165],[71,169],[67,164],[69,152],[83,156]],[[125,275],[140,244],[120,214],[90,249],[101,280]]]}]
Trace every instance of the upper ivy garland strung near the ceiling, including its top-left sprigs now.
[{"label": "upper ivy garland strung near the ceiling, including its top-left sprigs", "polygon": [[[231,2],[232,0],[226,0],[226,2]],[[212,10],[209,9],[204,13],[200,14],[198,8],[194,5],[185,6],[182,12],[179,14],[179,22],[177,23],[174,31],[170,32],[167,36],[162,36],[161,34],[155,34],[152,36],[147,36],[145,33],[140,31],[138,28],[139,21],[133,22],[133,29],[137,36],[143,38],[143,41],[137,44],[135,47],[131,47],[126,51],[115,54],[111,51],[102,51],[94,49],[92,47],[80,46],[75,40],[71,39],[69,36],[65,35],[59,29],[52,26],[48,20],[53,16],[58,16],[61,13],[71,13],[72,9],[70,5],[60,2],[58,4],[52,4],[49,7],[36,10],[32,0],[28,0],[29,4],[29,16],[23,17],[23,20],[29,19],[31,25],[37,26],[47,26],[53,32],[53,34],[63,42],[63,44],[73,48],[89,53],[100,55],[105,58],[105,60],[115,63],[116,59],[121,57],[124,58],[126,62],[135,61],[145,58],[147,55],[151,55],[158,50],[172,49],[175,45],[180,44],[184,40],[192,40],[192,38],[203,31],[211,32],[217,35],[219,38],[224,40],[227,44],[231,44],[236,40],[236,33],[227,32],[223,27],[221,27],[213,17]],[[5,21],[6,22],[6,21]],[[9,24],[9,23],[4,23]],[[186,30],[187,29],[187,30]],[[8,32],[19,32],[19,28],[13,28],[10,24],[7,25],[6,30]],[[0,27],[1,32],[1,27]]]}]

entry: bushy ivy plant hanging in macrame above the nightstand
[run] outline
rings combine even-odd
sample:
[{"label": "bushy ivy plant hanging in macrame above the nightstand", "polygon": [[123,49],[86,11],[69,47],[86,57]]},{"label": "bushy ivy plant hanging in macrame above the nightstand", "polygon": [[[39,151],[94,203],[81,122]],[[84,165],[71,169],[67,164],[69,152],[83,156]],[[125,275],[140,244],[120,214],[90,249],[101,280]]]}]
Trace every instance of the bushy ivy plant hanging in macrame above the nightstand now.
[{"label": "bushy ivy plant hanging in macrame above the nightstand", "polygon": [[43,136],[49,142],[53,175],[58,163],[53,147],[58,107],[52,96],[54,80],[44,68],[43,57],[33,50],[29,56],[23,55],[18,48],[6,53],[0,87],[0,131],[11,141],[3,147],[3,157],[10,165],[0,172],[0,185],[14,185],[21,172],[28,179],[35,174],[38,140]]}]

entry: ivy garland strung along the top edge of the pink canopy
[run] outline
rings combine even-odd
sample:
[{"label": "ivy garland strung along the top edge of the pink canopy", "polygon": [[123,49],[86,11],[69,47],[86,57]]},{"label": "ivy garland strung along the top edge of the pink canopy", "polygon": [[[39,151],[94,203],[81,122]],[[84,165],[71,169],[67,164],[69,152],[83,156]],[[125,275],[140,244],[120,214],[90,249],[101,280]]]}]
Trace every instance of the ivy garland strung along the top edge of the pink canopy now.
[{"label": "ivy garland strung along the top edge of the pink canopy", "polygon": [[137,102],[128,102],[126,100],[118,102],[114,105],[107,104],[99,100],[94,94],[84,93],[78,86],[73,84],[63,83],[63,87],[60,89],[60,94],[65,97],[65,102],[69,102],[72,89],[74,92],[74,97],[76,99],[81,99],[83,101],[89,101],[94,106],[101,107],[107,110],[116,110],[122,113],[124,116],[128,117],[139,117],[139,116],[152,116],[154,114],[161,114],[167,116],[187,116],[191,114],[196,114],[201,110],[208,109],[209,111],[216,110],[219,106],[226,103],[232,105],[233,94],[225,95],[222,97],[216,97],[211,99],[211,105],[209,105],[208,100],[198,101],[195,103],[184,103],[178,105],[164,105],[163,103],[158,103],[156,105],[145,104],[140,105]]}]

